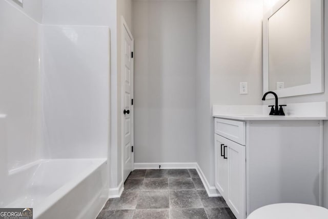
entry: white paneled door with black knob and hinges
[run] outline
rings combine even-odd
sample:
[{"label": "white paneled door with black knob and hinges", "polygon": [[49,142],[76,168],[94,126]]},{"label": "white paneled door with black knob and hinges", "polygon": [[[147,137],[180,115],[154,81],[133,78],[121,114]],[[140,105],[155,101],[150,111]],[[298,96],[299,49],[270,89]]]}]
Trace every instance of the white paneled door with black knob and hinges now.
[{"label": "white paneled door with black knob and hinges", "polygon": [[124,181],[133,164],[133,37],[122,17],[122,158]]}]

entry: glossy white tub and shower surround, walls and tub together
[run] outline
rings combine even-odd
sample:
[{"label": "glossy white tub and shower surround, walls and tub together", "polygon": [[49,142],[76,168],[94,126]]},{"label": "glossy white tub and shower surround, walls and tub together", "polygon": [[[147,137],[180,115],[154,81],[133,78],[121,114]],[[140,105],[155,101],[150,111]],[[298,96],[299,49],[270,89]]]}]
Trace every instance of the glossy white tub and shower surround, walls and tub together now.
[{"label": "glossy white tub and shower surround, walls and tub together", "polygon": [[[42,25],[7,1],[0,26],[0,207],[96,217],[108,198],[109,28]],[[45,188],[22,190],[35,180]]]}]

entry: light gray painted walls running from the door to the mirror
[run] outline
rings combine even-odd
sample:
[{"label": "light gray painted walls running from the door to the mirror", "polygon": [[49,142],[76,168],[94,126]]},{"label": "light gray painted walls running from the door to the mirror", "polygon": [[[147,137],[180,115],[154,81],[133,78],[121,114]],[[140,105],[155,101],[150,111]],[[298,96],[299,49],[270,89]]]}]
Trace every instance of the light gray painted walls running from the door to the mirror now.
[{"label": "light gray painted walls running from the door to the mirror", "polygon": [[262,13],[261,0],[133,1],[136,163],[196,161],[214,186],[212,105],[262,104]]}]

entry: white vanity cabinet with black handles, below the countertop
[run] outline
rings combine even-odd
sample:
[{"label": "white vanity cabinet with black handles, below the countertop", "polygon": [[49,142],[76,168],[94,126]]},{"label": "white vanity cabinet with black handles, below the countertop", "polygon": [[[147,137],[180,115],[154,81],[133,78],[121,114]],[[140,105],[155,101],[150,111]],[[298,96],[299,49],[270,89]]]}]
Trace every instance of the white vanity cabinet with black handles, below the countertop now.
[{"label": "white vanity cabinet with black handles, below the countertop", "polygon": [[274,203],[322,205],[322,121],[215,118],[215,186],[237,219]]}]

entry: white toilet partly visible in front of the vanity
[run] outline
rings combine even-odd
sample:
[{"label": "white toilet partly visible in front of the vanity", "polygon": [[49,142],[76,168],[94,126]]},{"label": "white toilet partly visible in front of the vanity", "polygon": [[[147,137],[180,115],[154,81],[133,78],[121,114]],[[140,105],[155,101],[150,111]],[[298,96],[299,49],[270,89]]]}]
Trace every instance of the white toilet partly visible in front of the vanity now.
[{"label": "white toilet partly visible in front of the vanity", "polygon": [[327,219],[328,209],[296,203],[263,206],[253,211],[247,219]]}]

